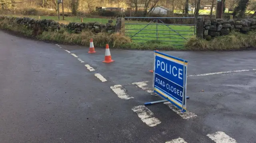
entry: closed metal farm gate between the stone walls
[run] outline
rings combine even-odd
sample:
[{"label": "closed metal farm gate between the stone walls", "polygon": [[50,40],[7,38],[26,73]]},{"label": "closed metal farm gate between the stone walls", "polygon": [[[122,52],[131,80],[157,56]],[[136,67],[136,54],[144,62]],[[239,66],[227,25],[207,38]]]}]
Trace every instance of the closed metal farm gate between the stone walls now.
[{"label": "closed metal farm gate between the stone walls", "polygon": [[[125,35],[132,41],[162,41],[183,46],[196,33],[194,17],[124,17]],[[127,22],[128,21],[128,22]]]}]

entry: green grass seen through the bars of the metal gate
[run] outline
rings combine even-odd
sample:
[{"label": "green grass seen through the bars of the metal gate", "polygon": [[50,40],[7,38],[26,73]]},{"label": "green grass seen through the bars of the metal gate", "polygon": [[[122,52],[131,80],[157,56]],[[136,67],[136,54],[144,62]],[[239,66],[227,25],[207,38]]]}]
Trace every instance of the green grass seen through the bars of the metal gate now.
[{"label": "green grass seen through the bars of the metal gate", "polygon": [[132,41],[139,43],[161,41],[164,45],[184,45],[184,43],[194,35],[194,25],[167,26],[156,25],[156,23],[151,23],[152,25],[147,24],[148,23],[145,22],[126,22],[126,36],[131,37]]}]

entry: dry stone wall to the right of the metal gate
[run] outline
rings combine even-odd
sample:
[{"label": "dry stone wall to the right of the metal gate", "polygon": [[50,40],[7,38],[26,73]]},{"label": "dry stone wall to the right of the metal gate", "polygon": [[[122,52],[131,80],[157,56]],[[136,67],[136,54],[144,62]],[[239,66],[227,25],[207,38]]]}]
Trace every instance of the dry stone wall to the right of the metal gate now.
[{"label": "dry stone wall to the right of the metal gate", "polygon": [[207,40],[210,40],[216,36],[228,35],[232,30],[247,33],[256,29],[255,19],[223,20],[206,18],[203,22],[203,37]]}]

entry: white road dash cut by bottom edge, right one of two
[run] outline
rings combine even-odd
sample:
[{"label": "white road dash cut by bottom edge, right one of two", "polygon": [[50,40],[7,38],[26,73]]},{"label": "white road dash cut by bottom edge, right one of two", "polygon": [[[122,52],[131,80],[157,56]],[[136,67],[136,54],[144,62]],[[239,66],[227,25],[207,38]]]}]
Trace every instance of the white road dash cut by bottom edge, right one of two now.
[{"label": "white road dash cut by bottom edge, right one of two", "polygon": [[217,131],[216,133],[208,134],[207,136],[215,141],[215,143],[237,143],[235,139],[229,137],[222,131]]}]

